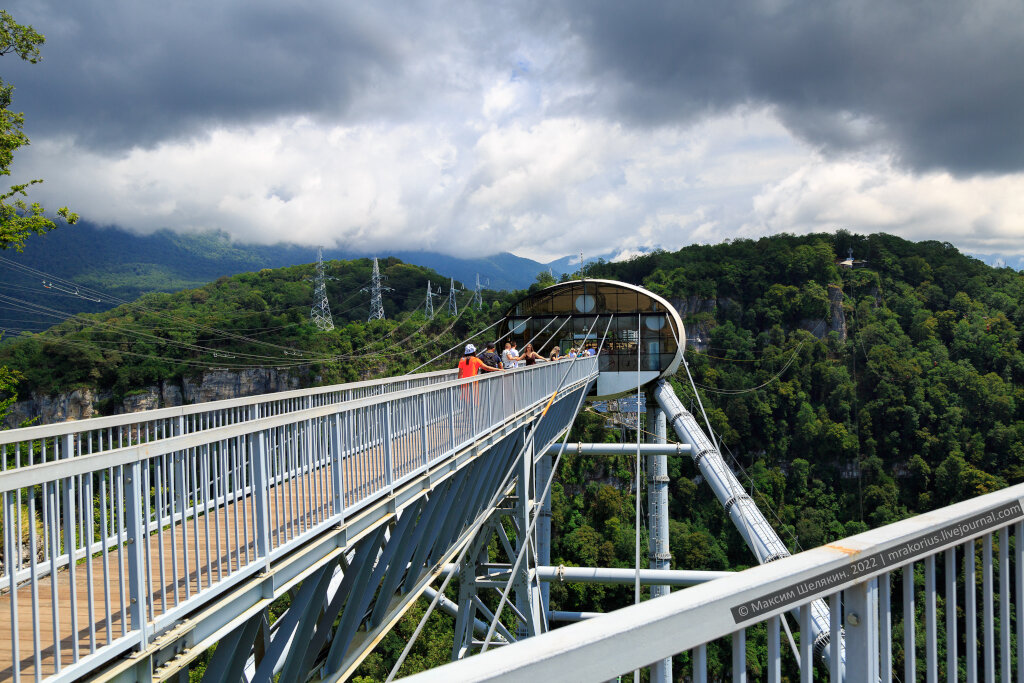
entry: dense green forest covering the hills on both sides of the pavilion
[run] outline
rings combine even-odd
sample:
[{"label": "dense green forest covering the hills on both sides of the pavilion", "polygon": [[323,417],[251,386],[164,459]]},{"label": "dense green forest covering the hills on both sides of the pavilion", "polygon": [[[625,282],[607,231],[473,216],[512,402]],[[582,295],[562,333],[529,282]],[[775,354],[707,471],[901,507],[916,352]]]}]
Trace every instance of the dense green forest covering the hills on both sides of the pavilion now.
[{"label": "dense green forest covering the hills on both sides of the pavilion", "polygon": [[[841,267],[851,250],[857,267]],[[426,281],[441,278],[386,260],[389,319],[368,324],[359,290],[371,266],[328,262],[330,333],[309,324],[312,266],[295,266],[80,316],[4,346],[0,364],[25,375],[22,391],[129,392],[206,366],[270,362],[260,356],[273,353],[282,362],[285,348],[306,354],[288,361],[312,369],[309,382],[395,375],[486,328],[523,294],[486,292],[482,310],[465,310],[466,293],[457,318],[427,321]],[[726,458],[793,551],[1024,480],[1021,272],[945,243],[840,230],[656,252],[592,264],[586,275],[642,285],[685,309],[687,364]],[[552,283],[545,273],[531,289]],[[673,381],[698,410],[685,371]],[[570,435],[622,437],[590,409]],[[554,563],[632,566],[634,468],[631,458],[565,457],[553,489]],[[670,459],[670,476],[674,566],[750,565],[692,463]],[[553,584],[551,594],[552,608],[565,610],[632,600],[630,587]],[[415,668],[446,657],[450,641],[436,642],[444,618],[417,646]],[[403,623],[398,633],[410,631]],[[400,647],[400,635],[387,636],[360,674],[386,675]]]}]

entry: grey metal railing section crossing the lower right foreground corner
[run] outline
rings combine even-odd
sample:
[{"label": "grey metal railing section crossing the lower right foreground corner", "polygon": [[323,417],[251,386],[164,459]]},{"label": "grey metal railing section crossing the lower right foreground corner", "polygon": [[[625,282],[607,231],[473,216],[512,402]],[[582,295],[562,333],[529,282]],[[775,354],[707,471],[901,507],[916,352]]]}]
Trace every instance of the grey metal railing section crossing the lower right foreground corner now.
[{"label": "grey metal railing section crossing the lower right foreground corner", "polygon": [[[419,674],[411,680],[593,680],[681,654],[708,680],[857,683],[1024,679],[1024,484],[756,566]],[[827,600],[845,671],[813,652]],[[787,612],[798,610],[793,639]],[[755,646],[748,649],[748,642]],[[791,654],[792,651],[792,654]]]}]

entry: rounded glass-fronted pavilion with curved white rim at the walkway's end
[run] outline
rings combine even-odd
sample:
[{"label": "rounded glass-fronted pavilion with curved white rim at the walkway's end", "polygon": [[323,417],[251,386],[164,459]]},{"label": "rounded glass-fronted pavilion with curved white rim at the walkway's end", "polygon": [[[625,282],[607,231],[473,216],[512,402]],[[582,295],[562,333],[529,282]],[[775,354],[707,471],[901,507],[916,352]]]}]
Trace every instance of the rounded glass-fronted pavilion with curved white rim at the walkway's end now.
[{"label": "rounded glass-fronted pavilion with curved white rim at the walkway's end", "polygon": [[[675,374],[686,335],[672,304],[642,287],[610,280],[560,283],[521,299],[506,313],[519,350],[532,342],[547,356],[556,345],[601,348],[597,394],[616,396]],[[610,325],[609,325],[610,323]]]}]

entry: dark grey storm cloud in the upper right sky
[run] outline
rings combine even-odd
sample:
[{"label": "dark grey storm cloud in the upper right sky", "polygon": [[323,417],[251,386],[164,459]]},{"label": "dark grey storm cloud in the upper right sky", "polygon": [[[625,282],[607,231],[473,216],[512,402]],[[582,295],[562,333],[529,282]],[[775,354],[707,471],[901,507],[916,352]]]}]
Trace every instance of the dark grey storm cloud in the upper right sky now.
[{"label": "dark grey storm cloud in the upper right sky", "polygon": [[532,18],[568,26],[597,105],[641,125],[767,103],[826,152],[1024,169],[1019,0],[568,0]]}]

